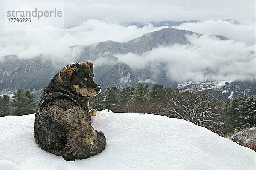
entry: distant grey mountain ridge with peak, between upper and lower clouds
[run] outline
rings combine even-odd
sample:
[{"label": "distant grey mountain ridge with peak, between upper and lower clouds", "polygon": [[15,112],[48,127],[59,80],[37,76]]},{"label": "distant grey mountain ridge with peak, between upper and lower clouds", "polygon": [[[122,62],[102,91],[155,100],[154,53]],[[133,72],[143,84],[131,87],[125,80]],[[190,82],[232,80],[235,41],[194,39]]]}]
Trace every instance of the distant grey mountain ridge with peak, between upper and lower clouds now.
[{"label": "distant grey mountain ridge with peak, between upper and lower clouds", "polygon": [[186,35],[191,35],[193,32],[186,30],[177,30],[174,28],[164,28],[159,31],[144,34],[141,37],[135,38],[128,42],[105,41],[93,45],[77,45],[71,48],[82,49],[79,60],[83,59],[95,60],[100,57],[113,57],[113,54],[142,54],[150,51],[160,45],[171,44],[187,44],[189,41]]}]

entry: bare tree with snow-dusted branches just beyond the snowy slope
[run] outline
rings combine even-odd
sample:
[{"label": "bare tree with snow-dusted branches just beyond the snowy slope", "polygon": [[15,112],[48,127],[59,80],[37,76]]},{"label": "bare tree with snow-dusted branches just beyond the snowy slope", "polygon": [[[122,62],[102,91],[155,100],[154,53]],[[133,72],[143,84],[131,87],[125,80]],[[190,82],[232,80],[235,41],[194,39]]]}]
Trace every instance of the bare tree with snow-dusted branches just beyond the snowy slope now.
[{"label": "bare tree with snow-dusted branches just beyond the snowy slope", "polygon": [[166,113],[173,117],[204,127],[213,127],[218,116],[218,99],[210,88],[195,88],[191,92],[178,92],[169,97]]}]

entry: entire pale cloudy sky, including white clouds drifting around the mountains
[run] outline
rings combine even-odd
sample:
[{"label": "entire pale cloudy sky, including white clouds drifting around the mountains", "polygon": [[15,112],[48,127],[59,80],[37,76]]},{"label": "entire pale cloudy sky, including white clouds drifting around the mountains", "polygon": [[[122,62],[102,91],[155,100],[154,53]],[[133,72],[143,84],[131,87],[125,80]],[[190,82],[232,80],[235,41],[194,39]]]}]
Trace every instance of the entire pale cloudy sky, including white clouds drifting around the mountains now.
[{"label": "entire pale cloudy sky, including white clouds drifting around the mountains", "polygon": [[[162,54],[170,68],[166,70],[169,76],[180,81],[195,77],[218,80],[255,77],[254,0],[0,0],[0,3],[0,22],[3,23],[0,24],[0,61],[5,55],[29,59],[43,54],[73,62],[76,53],[70,51],[70,46],[106,40],[127,42],[167,27],[154,27],[148,24],[151,21],[199,20],[172,27],[205,35],[187,37],[191,45],[163,46],[141,56],[117,57],[137,69],[133,61],[142,59],[143,63],[151,63],[157,54]],[[41,11],[57,8],[63,11],[63,17],[49,20],[44,17],[30,25],[6,24],[6,11],[35,8]],[[225,21],[227,19],[232,20]],[[122,25],[131,21],[146,25],[143,28]],[[15,30],[10,31],[12,29]],[[210,35],[222,35],[229,40],[214,39]],[[218,74],[205,75],[207,69]]]}]

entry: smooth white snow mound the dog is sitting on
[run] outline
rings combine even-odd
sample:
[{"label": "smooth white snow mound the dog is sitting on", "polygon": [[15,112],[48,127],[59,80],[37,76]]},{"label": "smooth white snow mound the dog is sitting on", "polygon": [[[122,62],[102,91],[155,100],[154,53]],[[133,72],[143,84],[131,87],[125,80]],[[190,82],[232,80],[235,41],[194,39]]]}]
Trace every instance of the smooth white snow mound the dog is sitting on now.
[{"label": "smooth white snow mound the dog is sitting on", "polygon": [[0,170],[255,170],[256,152],[182,119],[101,111],[102,153],[64,161],[33,139],[35,114],[1,117]]}]

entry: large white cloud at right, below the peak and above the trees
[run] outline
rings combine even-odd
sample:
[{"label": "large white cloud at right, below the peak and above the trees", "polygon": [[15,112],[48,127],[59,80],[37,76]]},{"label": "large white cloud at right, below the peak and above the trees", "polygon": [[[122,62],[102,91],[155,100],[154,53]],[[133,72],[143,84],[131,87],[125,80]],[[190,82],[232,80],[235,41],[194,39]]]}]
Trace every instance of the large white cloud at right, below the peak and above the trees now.
[{"label": "large white cloud at right, below the peak and above the trees", "polygon": [[176,82],[255,78],[255,45],[207,35],[198,37],[193,34],[187,39],[191,44],[159,47],[142,55],[118,54],[116,57],[134,70],[165,65],[169,78]]}]

